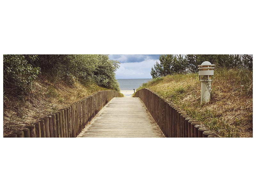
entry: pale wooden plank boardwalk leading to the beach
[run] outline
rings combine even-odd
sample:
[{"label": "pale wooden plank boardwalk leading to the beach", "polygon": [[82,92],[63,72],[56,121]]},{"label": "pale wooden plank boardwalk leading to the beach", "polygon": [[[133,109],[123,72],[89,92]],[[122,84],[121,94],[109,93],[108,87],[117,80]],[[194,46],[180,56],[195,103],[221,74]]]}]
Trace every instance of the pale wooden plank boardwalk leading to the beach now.
[{"label": "pale wooden plank boardwalk leading to the beach", "polygon": [[77,137],[165,137],[140,98],[115,97]]}]

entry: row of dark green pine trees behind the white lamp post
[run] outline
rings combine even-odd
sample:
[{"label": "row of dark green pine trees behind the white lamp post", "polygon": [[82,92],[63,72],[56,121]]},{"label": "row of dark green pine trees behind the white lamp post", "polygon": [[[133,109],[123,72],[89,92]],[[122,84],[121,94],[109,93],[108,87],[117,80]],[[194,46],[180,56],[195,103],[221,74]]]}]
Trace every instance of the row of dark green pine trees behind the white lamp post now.
[{"label": "row of dark green pine trees behind the white lamp post", "polygon": [[214,55],[214,54],[187,54],[187,55],[160,55],[159,62],[151,68],[152,78],[172,75],[175,73],[196,73],[198,65],[209,61],[216,68],[246,68],[252,70],[252,55]]}]

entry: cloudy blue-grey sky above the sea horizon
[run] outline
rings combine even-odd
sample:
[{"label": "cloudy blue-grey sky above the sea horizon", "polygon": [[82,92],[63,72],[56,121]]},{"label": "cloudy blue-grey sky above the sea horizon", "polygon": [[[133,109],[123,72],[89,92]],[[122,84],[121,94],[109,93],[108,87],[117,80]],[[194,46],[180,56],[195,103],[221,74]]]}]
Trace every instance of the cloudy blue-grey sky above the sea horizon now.
[{"label": "cloudy blue-grey sky above the sea horizon", "polygon": [[116,71],[116,79],[152,78],[151,67],[159,61],[159,55],[109,55],[109,58],[121,63]]}]

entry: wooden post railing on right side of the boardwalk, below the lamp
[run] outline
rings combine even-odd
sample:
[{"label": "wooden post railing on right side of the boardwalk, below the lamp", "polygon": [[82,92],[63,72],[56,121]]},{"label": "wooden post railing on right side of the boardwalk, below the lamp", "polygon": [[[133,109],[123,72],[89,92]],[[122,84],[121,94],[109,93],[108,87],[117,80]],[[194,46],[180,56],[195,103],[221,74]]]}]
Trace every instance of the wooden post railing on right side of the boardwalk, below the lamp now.
[{"label": "wooden post railing on right side of the boardwalk, below the lamp", "polygon": [[185,111],[147,88],[135,93],[148,108],[166,137],[218,137]]}]

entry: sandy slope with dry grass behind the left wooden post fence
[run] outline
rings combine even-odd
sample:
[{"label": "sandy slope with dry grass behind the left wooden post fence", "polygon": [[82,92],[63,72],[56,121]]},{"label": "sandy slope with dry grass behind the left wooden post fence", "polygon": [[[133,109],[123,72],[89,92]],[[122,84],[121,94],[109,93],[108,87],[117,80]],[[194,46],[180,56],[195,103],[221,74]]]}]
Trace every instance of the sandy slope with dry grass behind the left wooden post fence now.
[{"label": "sandy slope with dry grass behind the left wooden post fence", "polygon": [[15,132],[94,92],[103,90],[108,89],[95,84],[83,85],[77,81],[73,86],[68,86],[62,81],[53,83],[41,76],[33,83],[33,89],[25,100],[4,97],[4,135]]}]

